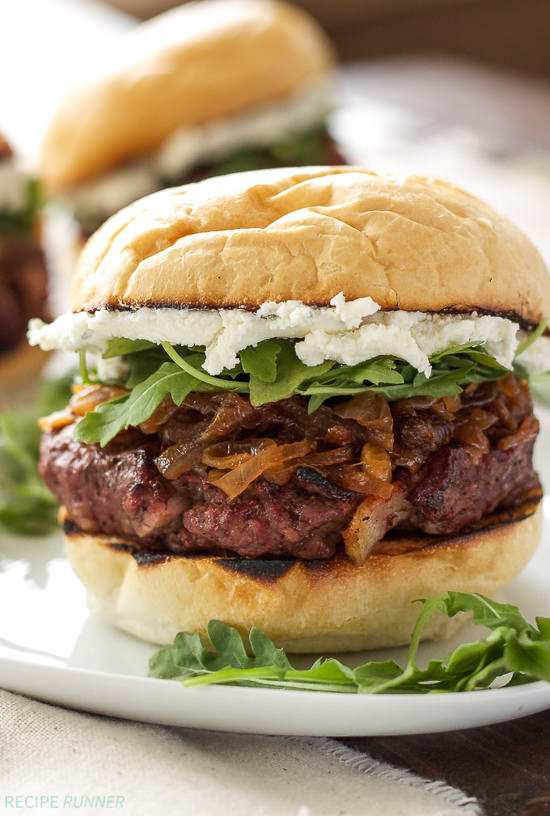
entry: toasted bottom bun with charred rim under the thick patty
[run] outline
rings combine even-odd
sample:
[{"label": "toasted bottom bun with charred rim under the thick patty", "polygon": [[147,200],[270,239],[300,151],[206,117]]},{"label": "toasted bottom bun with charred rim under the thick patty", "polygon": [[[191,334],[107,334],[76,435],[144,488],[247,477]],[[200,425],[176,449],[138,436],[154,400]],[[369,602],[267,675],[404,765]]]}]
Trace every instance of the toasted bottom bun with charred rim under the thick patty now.
[{"label": "toasted bottom bun with charred rim under the thick patty", "polygon": [[[344,555],[282,561],[151,553],[85,533],[64,511],[62,519],[90,609],[126,632],[157,644],[181,631],[206,640],[216,618],[244,636],[256,626],[288,652],[327,653],[408,643],[418,598],[501,589],[537,547],[540,504],[537,494],[453,538],[385,539],[361,567]],[[464,620],[434,615],[425,637],[448,637]]]}]

